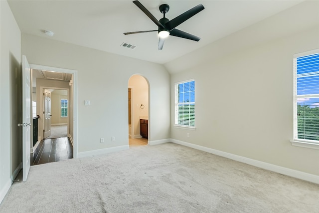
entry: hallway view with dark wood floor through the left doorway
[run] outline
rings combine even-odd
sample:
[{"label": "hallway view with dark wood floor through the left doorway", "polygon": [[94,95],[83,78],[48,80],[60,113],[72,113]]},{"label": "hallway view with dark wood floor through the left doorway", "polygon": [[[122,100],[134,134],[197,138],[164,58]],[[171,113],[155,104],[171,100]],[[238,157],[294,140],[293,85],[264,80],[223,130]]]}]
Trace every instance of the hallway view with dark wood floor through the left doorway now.
[{"label": "hallway view with dark wood floor through the left doorway", "polygon": [[[48,74],[49,71],[45,72]],[[54,73],[54,75],[61,74]],[[65,79],[72,77],[70,75]],[[31,166],[71,159],[73,158],[73,145],[70,140],[72,136],[69,132],[69,123],[70,111],[73,109],[69,103],[73,98],[70,97],[69,81],[46,78],[35,80],[37,92],[33,96],[36,96],[36,114],[40,117],[38,125],[40,135],[38,142],[33,147]]]}]

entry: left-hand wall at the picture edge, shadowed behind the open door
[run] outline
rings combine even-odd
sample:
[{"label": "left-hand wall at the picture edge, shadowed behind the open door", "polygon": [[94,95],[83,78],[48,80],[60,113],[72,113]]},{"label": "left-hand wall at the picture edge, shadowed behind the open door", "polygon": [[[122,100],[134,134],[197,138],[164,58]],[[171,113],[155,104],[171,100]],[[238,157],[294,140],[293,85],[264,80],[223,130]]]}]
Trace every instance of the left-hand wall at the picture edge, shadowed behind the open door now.
[{"label": "left-hand wall at the picture edge, shadowed behind the open door", "polygon": [[[17,80],[21,69],[21,33],[7,1],[0,1],[0,202],[21,162],[21,138],[16,136],[19,110]],[[15,120],[13,120],[13,118]],[[13,177],[14,178],[14,177]]]}]

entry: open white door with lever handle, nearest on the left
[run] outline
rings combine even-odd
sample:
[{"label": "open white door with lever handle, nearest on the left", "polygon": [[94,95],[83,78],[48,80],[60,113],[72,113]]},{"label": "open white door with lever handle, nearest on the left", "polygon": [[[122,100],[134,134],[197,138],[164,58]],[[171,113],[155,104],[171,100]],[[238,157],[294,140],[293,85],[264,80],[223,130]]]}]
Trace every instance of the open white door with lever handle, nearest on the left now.
[{"label": "open white door with lever handle, nearest on the left", "polygon": [[31,148],[31,90],[30,65],[25,55],[22,55],[22,166],[23,181],[26,181],[30,170]]}]

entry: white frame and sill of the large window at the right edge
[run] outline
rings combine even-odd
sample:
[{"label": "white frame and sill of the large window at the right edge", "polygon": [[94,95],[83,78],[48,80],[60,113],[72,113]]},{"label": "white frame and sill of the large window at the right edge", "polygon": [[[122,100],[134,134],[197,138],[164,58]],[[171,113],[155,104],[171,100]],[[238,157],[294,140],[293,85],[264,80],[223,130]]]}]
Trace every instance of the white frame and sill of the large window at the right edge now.
[{"label": "white frame and sill of the large window at the right edge", "polygon": [[293,130],[293,140],[291,140],[291,143],[293,146],[319,149],[319,141],[298,138],[298,115],[297,115],[298,114],[298,98],[319,98],[319,94],[308,94],[308,95],[297,94],[297,89],[298,89],[297,87],[297,58],[307,56],[307,55],[313,55],[313,54],[319,54],[319,49],[314,49],[314,50],[294,54],[294,64],[293,64],[294,66],[293,68],[294,70],[294,93],[293,93],[294,130]]}]

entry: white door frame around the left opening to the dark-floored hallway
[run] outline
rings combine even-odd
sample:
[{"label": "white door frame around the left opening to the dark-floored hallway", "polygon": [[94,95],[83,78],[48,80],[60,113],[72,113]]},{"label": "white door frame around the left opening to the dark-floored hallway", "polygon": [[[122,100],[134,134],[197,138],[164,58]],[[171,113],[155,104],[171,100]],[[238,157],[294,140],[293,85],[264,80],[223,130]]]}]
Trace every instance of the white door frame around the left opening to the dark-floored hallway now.
[{"label": "white door frame around the left opening to the dark-floored hallway", "polygon": [[[43,69],[54,72],[73,74],[73,158],[78,157],[78,74],[77,70],[64,69],[51,66],[43,66],[38,64],[30,64],[31,69]],[[49,87],[46,87],[49,88]],[[71,89],[69,89],[70,92]],[[72,122],[72,121],[69,121]]]}]

